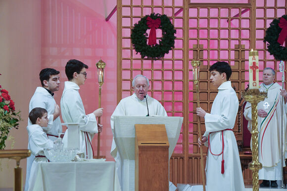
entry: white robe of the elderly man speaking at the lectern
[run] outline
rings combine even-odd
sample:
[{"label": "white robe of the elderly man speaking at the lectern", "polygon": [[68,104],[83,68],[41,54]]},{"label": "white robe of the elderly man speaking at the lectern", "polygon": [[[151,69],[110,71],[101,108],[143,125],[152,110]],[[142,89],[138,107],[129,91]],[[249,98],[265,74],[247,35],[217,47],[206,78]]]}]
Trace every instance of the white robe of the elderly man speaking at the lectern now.
[{"label": "white robe of the elderly man speaking at the lectern", "polygon": [[[148,111],[150,116],[159,115],[167,116],[166,111],[163,106],[154,98],[146,95]],[[120,101],[117,105],[114,113],[111,115],[111,128],[114,135],[114,116],[146,116],[147,107],[146,100],[140,100],[136,94],[126,97]],[[115,144],[114,138],[112,141],[111,155],[115,158],[116,169],[118,172],[118,177],[120,181],[121,188],[123,188],[124,172],[122,170],[122,159],[117,151],[117,146]],[[129,161],[131,166],[135,166],[135,160]],[[133,173],[134,174],[134,173]]]}]

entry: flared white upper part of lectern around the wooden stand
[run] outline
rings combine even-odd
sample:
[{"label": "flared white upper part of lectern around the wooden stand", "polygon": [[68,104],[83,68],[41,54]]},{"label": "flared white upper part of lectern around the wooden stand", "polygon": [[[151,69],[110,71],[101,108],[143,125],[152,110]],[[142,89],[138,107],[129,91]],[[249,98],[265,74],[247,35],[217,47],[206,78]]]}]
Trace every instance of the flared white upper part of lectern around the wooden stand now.
[{"label": "flared white upper part of lectern around the wooden stand", "polygon": [[164,124],[169,158],[179,138],[183,117],[178,116],[114,116],[114,140],[122,159],[135,159],[135,124]]}]

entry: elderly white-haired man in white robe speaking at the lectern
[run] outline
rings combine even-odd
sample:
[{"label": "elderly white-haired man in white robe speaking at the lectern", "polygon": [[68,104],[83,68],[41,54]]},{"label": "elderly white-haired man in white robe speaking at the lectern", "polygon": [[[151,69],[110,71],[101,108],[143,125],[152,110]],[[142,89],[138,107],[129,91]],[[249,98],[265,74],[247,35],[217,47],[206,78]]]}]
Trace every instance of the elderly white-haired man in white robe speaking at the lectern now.
[{"label": "elderly white-haired man in white robe speaking at the lectern", "polygon": [[[149,81],[146,76],[138,75],[135,76],[132,82],[132,88],[134,94],[122,99],[117,105],[114,113],[111,115],[111,128],[114,135],[114,116],[147,116],[148,115],[160,115],[167,116],[167,113],[163,106],[154,98],[147,95],[149,88]],[[148,110],[146,107],[146,101]],[[111,147],[111,155],[115,158],[116,168],[118,171],[118,177],[120,185],[123,185],[123,172],[121,170],[122,162],[120,154],[117,151],[117,146],[113,139]]]}]

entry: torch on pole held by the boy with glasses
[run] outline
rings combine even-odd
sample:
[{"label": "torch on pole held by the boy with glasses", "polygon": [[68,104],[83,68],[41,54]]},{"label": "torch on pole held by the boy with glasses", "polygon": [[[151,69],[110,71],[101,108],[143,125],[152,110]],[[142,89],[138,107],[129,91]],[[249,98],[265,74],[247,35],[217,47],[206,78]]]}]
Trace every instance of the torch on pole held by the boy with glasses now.
[{"label": "torch on pole held by the boy with glasses", "polygon": [[[104,77],[104,67],[106,63],[103,62],[101,59],[96,63],[97,68],[97,79],[98,79],[98,108],[101,108],[101,86],[103,85],[103,77]],[[97,122],[100,123],[100,117],[98,117]],[[101,158],[99,155],[99,148],[100,148],[100,132],[97,133],[97,155],[96,158]]]}]

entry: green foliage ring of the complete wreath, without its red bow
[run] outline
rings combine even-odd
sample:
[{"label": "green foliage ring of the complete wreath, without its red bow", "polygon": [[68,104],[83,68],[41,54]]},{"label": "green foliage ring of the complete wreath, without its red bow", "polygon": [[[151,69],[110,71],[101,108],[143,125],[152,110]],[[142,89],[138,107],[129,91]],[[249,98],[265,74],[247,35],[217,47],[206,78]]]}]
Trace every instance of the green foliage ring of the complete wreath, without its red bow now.
[{"label": "green foliage ring of the complete wreath, without its red bow", "polygon": [[[146,25],[146,19],[150,17],[152,19],[160,18],[161,23],[157,29],[161,29],[162,38],[158,44],[148,45],[147,44],[147,33],[146,30],[150,29]],[[174,48],[174,40],[176,30],[166,15],[160,15],[159,13],[145,15],[138,23],[134,25],[132,29],[131,39],[135,50],[141,54],[142,58],[159,59],[167,54],[172,48]]]}]

